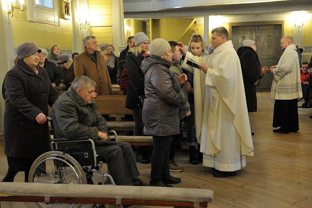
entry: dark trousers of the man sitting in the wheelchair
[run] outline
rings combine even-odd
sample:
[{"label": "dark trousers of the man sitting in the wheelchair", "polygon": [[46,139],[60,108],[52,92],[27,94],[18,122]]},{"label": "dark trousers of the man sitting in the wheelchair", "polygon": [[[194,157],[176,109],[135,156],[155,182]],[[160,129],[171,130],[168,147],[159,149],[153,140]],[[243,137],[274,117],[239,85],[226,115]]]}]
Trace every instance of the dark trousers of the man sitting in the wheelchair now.
[{"label": "dark trousers of the man sitting in the wheelchair", "polygon": [[98,158],[108,164],[108,170],[116,185],[133,185],[132,180],[139,177],[136,159],[128,142],[109,140],[95,141]]}]

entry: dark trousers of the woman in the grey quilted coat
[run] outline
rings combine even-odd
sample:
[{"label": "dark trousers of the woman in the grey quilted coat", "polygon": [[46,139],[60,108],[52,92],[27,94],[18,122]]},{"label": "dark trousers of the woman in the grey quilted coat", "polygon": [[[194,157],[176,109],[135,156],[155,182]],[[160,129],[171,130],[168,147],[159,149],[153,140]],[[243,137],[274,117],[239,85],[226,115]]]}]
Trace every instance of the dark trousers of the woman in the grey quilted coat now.
[{"label": "dark trousers of the woman in the grey quilted coat", "polygon": [[159,181],[169,175],[170,136],[153,136],[154,149],[151,157],[151,180]]}]

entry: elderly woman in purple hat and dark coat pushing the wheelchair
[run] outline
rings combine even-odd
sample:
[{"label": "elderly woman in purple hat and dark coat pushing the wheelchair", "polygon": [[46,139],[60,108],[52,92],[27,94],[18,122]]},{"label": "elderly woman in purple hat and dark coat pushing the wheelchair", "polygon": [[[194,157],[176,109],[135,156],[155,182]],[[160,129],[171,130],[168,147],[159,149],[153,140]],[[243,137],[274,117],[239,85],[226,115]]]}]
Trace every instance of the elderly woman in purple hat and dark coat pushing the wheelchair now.
[{"label": "elderly woman in purple hat and dark coat pushing the wheelchair", "polygon": [[16,52],[16,66],[7,72],[5,81],[3,133],[9,168],[2,182],[13,182],[19,171],[25,172],[28,182],[34,160],[50,150],[46,115],[48,105],[58,98],[46,70],[38,64],[41,50],[34,43],[25,42]]}]

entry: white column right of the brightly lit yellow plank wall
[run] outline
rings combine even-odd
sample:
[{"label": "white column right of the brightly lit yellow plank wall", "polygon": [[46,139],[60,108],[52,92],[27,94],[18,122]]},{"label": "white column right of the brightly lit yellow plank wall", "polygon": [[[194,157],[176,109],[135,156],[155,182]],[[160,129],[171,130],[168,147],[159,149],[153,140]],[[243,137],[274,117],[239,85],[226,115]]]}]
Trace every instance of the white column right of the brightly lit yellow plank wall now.
[{"label": "white column right of the brightly lit yellow plank wall", "polygon": [[123,0],[112,0],[112,28],[115,55],[119,56],[119,53],[125,48]]}]

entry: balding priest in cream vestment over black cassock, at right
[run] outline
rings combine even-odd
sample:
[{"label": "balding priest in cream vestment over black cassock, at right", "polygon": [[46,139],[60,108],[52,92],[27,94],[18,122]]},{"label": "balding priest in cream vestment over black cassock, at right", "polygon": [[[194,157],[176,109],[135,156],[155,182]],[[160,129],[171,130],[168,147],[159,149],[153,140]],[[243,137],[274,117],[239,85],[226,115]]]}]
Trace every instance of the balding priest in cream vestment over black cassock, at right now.
[{"label": "balding priest in cream vestment over black cassock, at right", "polygon": [[300,62],[294,40],[280,39],[283,55],[277,65],[271,66],[274,75],[271,98],[274,100],[273,132],[289,134],[299,131],[298,98],[302,97]]}]

